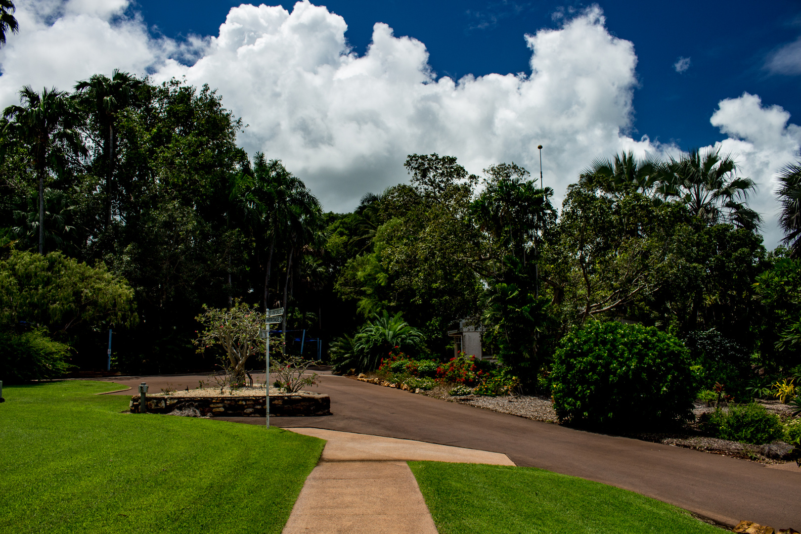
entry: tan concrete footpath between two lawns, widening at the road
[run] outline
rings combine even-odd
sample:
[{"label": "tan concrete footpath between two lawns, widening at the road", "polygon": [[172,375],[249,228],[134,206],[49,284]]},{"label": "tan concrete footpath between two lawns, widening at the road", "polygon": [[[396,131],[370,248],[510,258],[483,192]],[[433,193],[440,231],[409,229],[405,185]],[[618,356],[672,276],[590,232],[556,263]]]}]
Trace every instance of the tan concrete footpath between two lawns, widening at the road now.
[{"label": "tan concrete footpath between two lawns, widening at the road", "polygon": [[437,534],[407,460],[514,465],[498,452],[320,428],[292,432],[328,443],[284,534]]}]

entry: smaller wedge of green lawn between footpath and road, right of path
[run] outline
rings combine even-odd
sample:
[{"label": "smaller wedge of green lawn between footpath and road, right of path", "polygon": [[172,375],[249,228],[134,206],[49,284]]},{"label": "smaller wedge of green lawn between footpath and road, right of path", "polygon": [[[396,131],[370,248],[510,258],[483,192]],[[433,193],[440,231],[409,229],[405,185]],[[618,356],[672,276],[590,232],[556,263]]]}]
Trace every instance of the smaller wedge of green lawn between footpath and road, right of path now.
[{"label": "smaller wedge of green lawn between footpath and road, right of path", "polygon": [[536,468],[409,462],[440,534],[721,534],[670,504]]}]

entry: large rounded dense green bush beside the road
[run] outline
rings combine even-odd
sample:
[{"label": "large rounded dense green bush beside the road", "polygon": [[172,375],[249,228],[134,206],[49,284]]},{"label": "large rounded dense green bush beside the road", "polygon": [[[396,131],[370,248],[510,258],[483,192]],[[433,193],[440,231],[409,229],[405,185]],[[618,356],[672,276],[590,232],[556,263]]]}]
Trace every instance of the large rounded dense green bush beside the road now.
[{"label": "large rounded dense green bush beside the road", "polygon": [[550,375],[560,422],[632,428],[688,418],[688,351],[654,327],[587,323],[566,335]]}]

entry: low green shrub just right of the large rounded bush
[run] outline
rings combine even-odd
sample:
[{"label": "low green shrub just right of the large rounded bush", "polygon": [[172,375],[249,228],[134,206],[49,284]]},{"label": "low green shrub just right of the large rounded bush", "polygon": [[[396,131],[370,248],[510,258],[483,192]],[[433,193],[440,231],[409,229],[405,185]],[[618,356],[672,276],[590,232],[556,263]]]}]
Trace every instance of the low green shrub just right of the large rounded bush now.
[{"label": "low green shrub just right of the large rounded bush", "polygon": [[702,432],[721,440],[747,444],[767,444],[779,440],[784,427],[779,416],[768,413],[762,404],[750,403],[702,414]]}]

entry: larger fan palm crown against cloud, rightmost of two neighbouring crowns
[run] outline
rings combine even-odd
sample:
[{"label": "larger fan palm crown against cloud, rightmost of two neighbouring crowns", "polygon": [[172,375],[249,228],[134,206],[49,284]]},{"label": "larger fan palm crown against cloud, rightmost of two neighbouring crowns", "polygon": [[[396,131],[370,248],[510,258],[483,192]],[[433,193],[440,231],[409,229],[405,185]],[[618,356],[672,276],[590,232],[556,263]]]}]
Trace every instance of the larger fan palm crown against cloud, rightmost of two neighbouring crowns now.
[{"label": "larger fan palm crown against cloud, rightmost of two neighbouring crowns", "polygon": [[723,221],[756,230],[762,218],[745,203],[755,191],[750,178],[737,176],[737,163],[731,155],[721,155],[719,148],[694,149],[681,158],[670,158],[658,177],[662,198],[683,203],[706,224]]}]

